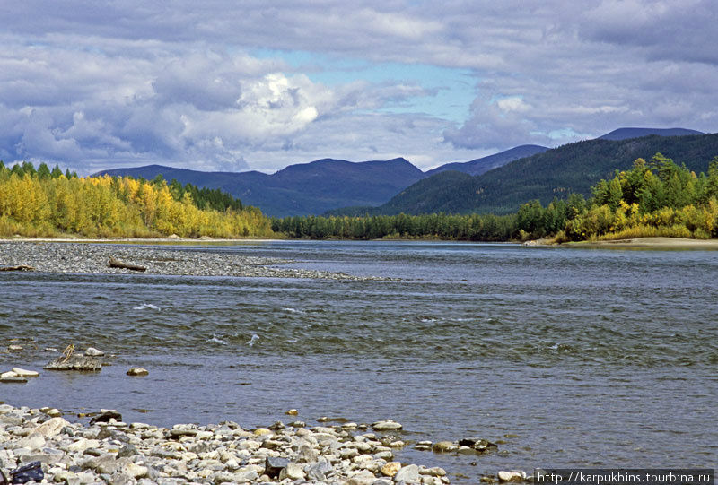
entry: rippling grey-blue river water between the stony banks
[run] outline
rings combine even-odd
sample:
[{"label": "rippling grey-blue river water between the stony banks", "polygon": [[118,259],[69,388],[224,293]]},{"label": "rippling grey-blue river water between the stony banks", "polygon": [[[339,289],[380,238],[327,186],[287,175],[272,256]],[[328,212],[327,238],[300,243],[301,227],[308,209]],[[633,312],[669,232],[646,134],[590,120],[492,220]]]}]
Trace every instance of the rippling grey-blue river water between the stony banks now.
[{"label": "rippling grey-blue river water between the stony banks", "polygon": [[[718,463],[718,251],[425,242],[173,247],[289,258],[392,281],[0,273],[0,331],[115,354],[44,372],[0,400],[72,416],[114,408],[169,426],[321,416],[404,425],[403,439],[485,437],[490,455],[407,446],[453,482],[534,467]],[[29,339],[33,339],[30,341]],[[131,366],[147,377],[126,377]],[[288,419],[289,418],[289,419]],[[72,419],[72,418],[71,418]]]}]

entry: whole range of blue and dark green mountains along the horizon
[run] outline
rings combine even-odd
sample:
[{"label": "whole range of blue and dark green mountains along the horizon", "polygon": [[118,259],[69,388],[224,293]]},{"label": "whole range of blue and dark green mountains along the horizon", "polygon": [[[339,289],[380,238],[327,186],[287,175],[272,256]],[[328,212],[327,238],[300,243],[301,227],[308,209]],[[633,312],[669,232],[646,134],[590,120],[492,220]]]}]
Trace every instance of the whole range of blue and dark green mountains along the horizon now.
[{"label": "whole range of blue and dark green mountains along the horizon", "polygon": [[714,136],[718,135],[683,128],[619,128],[595,140],[555,149],[521,145],[426,172],[398,158],[363,162],[322,159],[290,165],[274,174],[148,165],[95,175],[146,179],[162,175],[182,184],[219,188],[276,217],[325,212],[503,213],[515,211],[530,199],[547,204],[555,195],[588,195],[590,186],[609,177],[614,169],[628,168],[635,158],[650,158],[655,152],[684,161],[691,169],[696,165],[705,170],[708,160],[718,154]]}]

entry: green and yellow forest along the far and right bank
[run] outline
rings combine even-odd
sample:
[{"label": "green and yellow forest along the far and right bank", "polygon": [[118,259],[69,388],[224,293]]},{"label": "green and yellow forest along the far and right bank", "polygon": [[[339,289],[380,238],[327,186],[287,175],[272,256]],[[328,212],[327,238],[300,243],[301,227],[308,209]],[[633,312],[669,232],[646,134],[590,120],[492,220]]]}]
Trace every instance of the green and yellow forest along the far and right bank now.
[{"label": "green and yellow forest along the far and right bank", "polygon": [[571,194],[543,206],[522,204],[508,215],[447,213],[365,217],[273,219],[272,229],[289,238],[439,238],[507,241],[550,238],[556,242],[596,239],[718,238],[718,157],[696,175],[661,153],[637,159],[629,170],[591,187],[589,200]]}]

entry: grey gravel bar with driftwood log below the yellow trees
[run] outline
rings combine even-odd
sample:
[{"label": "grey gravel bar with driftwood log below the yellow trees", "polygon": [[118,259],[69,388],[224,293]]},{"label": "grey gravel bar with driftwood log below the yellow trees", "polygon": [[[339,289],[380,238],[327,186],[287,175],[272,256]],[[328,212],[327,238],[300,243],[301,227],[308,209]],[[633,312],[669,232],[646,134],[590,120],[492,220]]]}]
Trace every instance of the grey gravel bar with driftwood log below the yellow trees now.
[{"label": "grey gravel bar with driftwood log below the yellow trees", "polygon": [[[129,242],[133,244],[127,244]],[[293,263],[287,259],[231,252],[181,251],[175,245],[157,244],[162,241],[154,239],[152,244],[143,245],[143,242],[136,239],[83,242],[4,240],[0,241],[0,267],[29,266],[43,273],[138,273],[132,269],[110,267],[109,259],[113,258],[127,265],[143,267],[143,274],[353,281],[377,279],[282,267]],[[166,239],[163,242],[176,243],[177,240]]]}]

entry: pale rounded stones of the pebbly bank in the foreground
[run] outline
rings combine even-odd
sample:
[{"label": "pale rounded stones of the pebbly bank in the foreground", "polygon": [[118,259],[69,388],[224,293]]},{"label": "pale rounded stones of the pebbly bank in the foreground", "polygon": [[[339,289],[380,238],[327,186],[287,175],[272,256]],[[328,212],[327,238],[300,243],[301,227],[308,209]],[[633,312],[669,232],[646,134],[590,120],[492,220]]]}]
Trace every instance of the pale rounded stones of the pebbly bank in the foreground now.
[{"label": "pale rounded stones of the pebbly bank in the foreground", "polygon": [[88,424],[58,414],[48,408],[0,405],[0,467],[5,473],[39,461],[46,481],[65,483],[450,482],[442,468],[393,461],[394,451],[405,443],[397,437],[401,425],[391,420],[363,427],[307,428],[293,421],[242,429],[225,421],[165,429],[125,423],[117,411],[95,413]]}]

